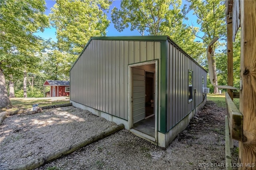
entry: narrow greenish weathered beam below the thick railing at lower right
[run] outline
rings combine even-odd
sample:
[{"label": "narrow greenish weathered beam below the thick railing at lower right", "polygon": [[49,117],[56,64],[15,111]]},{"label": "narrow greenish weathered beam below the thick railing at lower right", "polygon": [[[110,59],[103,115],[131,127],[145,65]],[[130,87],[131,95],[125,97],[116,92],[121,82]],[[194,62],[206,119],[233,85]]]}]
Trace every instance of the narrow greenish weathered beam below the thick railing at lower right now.
[{"label": "narrow greenish weathered beam below the thick railing at lower right", "polygon": [[225,116],[225,159],[226,159],[226,170],[232,170],[231,168],[231,152],[230,152],[230,136],[228,126],[228,116]]}]

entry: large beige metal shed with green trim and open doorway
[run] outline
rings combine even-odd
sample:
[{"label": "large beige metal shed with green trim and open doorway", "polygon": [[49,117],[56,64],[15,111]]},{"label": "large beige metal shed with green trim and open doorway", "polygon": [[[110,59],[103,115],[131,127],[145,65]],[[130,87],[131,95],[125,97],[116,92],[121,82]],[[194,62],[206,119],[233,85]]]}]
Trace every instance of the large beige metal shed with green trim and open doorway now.
[{"label": "large beige metal shed with green trim and open doorway", "polygon": [[166,147],[205,104],[206,74],[168,36],[92,37],[70,69],[70,102]]}]

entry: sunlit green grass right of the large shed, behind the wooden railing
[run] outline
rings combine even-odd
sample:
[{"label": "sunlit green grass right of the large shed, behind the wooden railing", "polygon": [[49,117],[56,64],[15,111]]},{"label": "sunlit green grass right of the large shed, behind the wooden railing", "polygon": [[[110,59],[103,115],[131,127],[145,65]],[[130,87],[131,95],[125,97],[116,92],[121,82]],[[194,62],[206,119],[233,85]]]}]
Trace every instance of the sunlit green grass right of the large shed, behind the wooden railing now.
[{"label": "sunlit green grass right of the large shed, behind the wooden railing", "polygon": [[[218,107],[226,108],[225,95],[208,94],[207,100],[213,101]],[[234,104],[239,109],[239,99],[234,98]]]}]

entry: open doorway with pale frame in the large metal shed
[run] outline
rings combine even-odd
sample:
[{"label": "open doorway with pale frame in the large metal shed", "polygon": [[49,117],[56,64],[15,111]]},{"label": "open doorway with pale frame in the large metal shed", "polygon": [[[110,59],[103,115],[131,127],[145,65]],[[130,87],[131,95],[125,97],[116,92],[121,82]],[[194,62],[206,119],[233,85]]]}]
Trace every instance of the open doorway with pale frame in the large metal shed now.
[{"label": "open doorway with pale frame in the large metal shed", "polygon": [[132,127],[153,138],[156,136],[155,82],[156,64],[132,69]]}]

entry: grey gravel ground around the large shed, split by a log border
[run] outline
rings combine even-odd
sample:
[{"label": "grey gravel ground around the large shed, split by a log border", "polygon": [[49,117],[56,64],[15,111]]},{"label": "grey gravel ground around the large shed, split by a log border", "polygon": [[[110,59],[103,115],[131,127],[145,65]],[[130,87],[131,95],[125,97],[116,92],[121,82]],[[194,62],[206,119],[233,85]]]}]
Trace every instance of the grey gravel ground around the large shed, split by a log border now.
[{"label": "grey gravel ground around the large shed, split by a log border", "polygon": [[[226,109],[208,101],[167,148],[124,129],[37,169],[225,169],[225,115]],[[114,125],[74,107],[8,117],[0,126],[0,169],[49,154]],[[232,149],[234,162],[236,146],[237,142]]]}]

